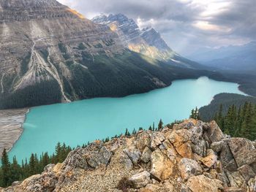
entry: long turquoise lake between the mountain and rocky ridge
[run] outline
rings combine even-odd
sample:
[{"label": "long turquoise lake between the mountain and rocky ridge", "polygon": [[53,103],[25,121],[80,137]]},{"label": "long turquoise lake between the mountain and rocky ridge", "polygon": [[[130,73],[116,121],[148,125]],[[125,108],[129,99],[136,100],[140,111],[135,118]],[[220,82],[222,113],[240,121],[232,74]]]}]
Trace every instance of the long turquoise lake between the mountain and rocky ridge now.
[{"label": "long turquoise lake between the mountain and rocky ridge", "polygon": [[176,80],[167,88],[123,98],[99,98],[34,107],[24,131],[10,151],[20,161],[31,153],[53,153],[57,142],[76,147],[95,139],[188,118],[195,107],[209,104],[218,93],[240,93],[238,84],[200,77]]}]

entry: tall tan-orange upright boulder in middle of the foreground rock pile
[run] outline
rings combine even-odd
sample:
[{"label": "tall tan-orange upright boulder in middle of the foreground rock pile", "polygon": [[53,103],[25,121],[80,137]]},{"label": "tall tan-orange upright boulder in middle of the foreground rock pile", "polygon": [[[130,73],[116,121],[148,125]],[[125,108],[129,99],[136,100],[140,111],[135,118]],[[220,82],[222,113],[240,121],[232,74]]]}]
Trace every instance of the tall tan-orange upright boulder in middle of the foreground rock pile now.
[{"label": "tall tan-orange upright boulder in middle of the foreground rock pile", "polygon": [[161,150],[157,149],[151,154],[151,174],[159,180],[166,180],[173,174],[175,162],[170,160]]}]

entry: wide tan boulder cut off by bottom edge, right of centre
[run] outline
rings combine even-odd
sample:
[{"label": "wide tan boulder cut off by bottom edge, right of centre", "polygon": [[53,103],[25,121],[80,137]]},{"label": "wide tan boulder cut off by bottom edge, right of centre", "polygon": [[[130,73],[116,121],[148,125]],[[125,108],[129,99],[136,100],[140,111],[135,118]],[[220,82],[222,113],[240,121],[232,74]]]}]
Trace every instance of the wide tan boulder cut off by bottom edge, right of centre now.
[{"label": "wide tan boulder cut off by bottom edge, right of centre", "polygon": [[211,180],[203,174],[190,177],[187,181],[187,187],[192,192],[219,192],[223,189],[220,180]]}]

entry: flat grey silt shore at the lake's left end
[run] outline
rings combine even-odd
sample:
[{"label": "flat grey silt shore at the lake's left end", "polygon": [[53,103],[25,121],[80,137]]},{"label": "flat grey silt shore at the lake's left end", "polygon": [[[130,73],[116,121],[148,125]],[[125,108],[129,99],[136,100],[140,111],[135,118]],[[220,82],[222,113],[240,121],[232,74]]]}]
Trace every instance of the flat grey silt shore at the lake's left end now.
[{"label": "flat grey silt shore at the lake's left end", "polygon": [[23,133],[29,108],[0,110],[0,158],[4,148],[9,152]]}]

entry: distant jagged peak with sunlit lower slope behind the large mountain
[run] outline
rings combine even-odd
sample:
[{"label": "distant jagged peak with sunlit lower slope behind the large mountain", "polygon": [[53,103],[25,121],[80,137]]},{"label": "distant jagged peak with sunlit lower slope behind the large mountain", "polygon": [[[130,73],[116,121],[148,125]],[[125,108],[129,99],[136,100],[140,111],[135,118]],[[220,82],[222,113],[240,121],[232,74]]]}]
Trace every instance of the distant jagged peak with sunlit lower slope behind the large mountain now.
[{"label": "distant jagged peak with sunlit lower slope behind the large mountain", "polygon": [[109,26],[112,31],[118,34],[124,47],[129,48],[129,50],[164,61],[173,66],[192,69],[203,68],[200,64],[189,61],[187,58],[183,58],[174,52],[154,28],[143,28],[143,30],[140,30],[135,21],[127,18],[125,15],[120,13],[108,16],[102,14],[93,18],[92,21]]}]

